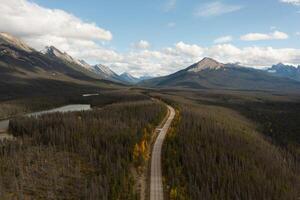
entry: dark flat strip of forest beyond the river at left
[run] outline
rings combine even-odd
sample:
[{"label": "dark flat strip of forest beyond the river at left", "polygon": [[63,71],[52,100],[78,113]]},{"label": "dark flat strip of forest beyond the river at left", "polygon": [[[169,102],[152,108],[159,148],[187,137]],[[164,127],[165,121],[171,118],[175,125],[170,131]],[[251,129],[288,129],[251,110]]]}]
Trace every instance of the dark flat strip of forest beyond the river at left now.
[{"label": "dark flat strip of forest beyond the river at left", "polygon": [[[88,92],[97,93],[98,96],[84,97],[83,94]],[[102,107],[113,103],[143,101],[148,99],[148,96],[139,92],[119,89],[110,91],[88,90],[74,94],[46,94],[44,96],[31,96],[30,98],[23,97],[19,99],[0,100],[0,120],[68,104],[91,104],[92,107]]]}]

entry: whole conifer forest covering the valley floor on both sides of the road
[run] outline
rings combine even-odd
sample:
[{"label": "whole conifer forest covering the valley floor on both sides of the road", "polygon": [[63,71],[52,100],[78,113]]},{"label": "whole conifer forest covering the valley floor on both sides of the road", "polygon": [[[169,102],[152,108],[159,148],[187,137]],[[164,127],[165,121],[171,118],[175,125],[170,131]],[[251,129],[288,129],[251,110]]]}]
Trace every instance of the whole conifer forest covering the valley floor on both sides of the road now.
[{"label": "whole conifer forest covering the valley floor on both sides of the road", "polygon": [[16,140],[0,145],[0,199],[140,199],[137,174],[147,173],[166,115],[149,96],[177,110],[162,154],[166,199],[300,196],[298,97],[132,89],[2,102],[18,107],[4,117],[66,104],[93,110],[13,119]]}]

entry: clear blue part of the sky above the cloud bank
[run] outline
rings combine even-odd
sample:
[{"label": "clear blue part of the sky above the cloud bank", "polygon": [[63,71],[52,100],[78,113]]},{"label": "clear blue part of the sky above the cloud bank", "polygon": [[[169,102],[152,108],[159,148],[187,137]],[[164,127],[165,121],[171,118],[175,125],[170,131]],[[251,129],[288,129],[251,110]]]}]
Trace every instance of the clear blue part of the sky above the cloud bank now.
[{"label": "clear blue part of the sky above the cloud bank", "polygon": [[[224,5],[240,6],[240,10],[219,15],[197,17],[195,12],[212,1],[199,0],[34,0],[49,8],[66,10],[83,20],[95,22],[112,32],[111,45],[128,50],[138,40],[150,41],[153,48],[162,48],[178,41],[212,45],[217,37],[232,35],[238,46],[259,45],[299,47],[300,7],[279,0],[228,0]],[[175,3],[170,3],[175,2]],[[171,4],[173,6],[171,6]],[[168,24],[176,24],[168,27]],[[289,34],[288,40],[245,42],[239,37],[249,32]]]}]

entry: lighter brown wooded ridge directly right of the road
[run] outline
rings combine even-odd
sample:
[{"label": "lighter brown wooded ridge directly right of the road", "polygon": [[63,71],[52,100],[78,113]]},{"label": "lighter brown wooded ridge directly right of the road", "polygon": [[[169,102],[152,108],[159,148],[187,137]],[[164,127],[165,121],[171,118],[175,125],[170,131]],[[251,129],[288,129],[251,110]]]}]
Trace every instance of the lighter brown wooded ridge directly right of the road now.
[{"label": "lighter brown wooded ridge directly right of the road", "polygon": [[294,157],[266,141],[244,117],[222,107],[180,104],[163,146],[167,199],[299,197]]}]

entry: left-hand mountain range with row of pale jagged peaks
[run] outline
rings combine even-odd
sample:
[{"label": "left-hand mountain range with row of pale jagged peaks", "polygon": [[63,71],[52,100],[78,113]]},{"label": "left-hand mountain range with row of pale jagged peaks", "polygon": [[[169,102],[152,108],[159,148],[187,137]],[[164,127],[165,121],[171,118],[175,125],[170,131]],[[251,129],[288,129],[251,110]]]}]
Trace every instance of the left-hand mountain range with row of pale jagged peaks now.
[{"label": "left-hand mountain range with row of pale jagged peaks", "polygon": [[108,83],[133,84],[108,67],[97,64],[90,65],[62,52],[54,46],[36,51],[25,42],[8,33],[0,33],[0,82],[1,88],[18,85],[22,88],[35,82],[60,81],[79,84]]}]

